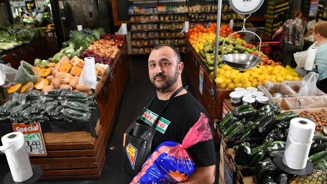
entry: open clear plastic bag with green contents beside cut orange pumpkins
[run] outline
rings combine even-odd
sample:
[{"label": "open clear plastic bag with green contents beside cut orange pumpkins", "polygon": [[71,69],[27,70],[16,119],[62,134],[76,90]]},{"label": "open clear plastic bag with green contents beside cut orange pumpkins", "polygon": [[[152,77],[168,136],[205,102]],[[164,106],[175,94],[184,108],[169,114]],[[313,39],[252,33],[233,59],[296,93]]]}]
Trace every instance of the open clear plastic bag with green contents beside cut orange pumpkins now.
[{"label": "open clear plastic bag with green contents beside cut orange pumpkins", "polygon": [[[25,67],[31,68],[34,74],[30,74]],[[21,61],[21,65],[18,67],[17,75],[15,77],[15,84],[21,83],[26,84],[27,82],[37,82],[41,77],[40,71],[37,70],[34,66],[30,65],[25,61]]]}]

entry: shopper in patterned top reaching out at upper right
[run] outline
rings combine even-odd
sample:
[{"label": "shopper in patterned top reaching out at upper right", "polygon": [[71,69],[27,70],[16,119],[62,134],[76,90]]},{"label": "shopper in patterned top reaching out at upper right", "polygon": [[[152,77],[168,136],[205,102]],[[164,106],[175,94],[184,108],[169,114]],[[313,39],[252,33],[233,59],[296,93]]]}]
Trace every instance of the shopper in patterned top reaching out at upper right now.
[{"label": "shopper in patterned top reaching out at upper right", "polygon": [[284,37],[284,47],[282,52],[283,64],[295,67],[293,54],[302,51],[304,40],[303,35],[305,31],[306,22],[301,19],[301,9],[293,11],[293,19],[288,19],[275,33],[274,37],[278,36],[286,30]]}]

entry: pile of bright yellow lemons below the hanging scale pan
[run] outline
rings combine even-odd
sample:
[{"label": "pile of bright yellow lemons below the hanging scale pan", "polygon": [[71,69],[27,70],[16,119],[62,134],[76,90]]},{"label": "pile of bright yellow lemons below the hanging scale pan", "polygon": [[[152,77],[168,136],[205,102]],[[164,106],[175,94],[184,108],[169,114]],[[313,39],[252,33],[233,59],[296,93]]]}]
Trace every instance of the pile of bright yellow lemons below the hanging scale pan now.
[{"label": "pile of bright yellow lemons below the hanging scale pan", "polygon": [[[210,73],[213,76],[213,72]],[[239,71],[223,65],[217,69],[215,82],[219,88],[234,89],[235,87],[257,87],[259,84],[271,82],[281,82],[283,80],[300,80],[295,68],[290,66],[264,66],[251,70]]]}]

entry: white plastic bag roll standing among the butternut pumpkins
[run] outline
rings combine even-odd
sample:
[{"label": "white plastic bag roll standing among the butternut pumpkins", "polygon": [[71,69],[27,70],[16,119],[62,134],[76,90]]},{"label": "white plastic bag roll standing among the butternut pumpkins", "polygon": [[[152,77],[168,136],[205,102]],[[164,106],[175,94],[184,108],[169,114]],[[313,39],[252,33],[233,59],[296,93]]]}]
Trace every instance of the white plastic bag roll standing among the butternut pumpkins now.
[{"label": "white plastic bag roll standing among the butternut pumpkins", "polygon": [[94,57],[84,58],[84,67],[80,73],[78,84],[84,85],[91,89],[95,89],[97,86],[97,73]]}]

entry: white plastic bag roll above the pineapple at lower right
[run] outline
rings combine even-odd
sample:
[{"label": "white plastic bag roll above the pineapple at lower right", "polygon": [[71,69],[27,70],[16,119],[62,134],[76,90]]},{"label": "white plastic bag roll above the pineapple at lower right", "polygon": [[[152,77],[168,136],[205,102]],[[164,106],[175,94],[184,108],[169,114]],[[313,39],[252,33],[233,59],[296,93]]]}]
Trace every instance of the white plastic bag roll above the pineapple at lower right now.
[{"label": "white plastic bag roll above the pineapple at lower right", "polygon": [[305,118],[293,118],[288,130],[283,163],[292,169],[306,166],[315,124]]}]

